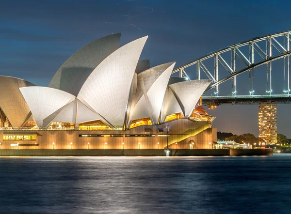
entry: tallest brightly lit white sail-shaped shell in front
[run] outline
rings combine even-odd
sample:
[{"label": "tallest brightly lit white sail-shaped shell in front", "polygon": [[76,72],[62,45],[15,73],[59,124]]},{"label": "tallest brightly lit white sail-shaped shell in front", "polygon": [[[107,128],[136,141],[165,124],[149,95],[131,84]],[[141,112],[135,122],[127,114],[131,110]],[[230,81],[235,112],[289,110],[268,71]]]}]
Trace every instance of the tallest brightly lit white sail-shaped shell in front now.
[{"label": "tallest brightly lit white sail-shaped shell in front", "polygon": [[114,127],[123,127],[134,71],[146,37],[120,47],[102,61],[83,84],[78,99]]}]

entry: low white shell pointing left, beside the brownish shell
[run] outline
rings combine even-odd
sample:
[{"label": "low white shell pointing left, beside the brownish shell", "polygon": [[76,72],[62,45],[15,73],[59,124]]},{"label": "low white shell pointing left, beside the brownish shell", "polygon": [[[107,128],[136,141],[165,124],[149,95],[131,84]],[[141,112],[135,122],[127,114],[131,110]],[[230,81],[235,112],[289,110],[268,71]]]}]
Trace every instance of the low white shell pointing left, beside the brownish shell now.
[{"label": "low white shell pointing left, beside the brownish shell", "polygon": [[24,87],[20,91],[38,127],[47,127],[76,98],[67,92],[48,87]]}]

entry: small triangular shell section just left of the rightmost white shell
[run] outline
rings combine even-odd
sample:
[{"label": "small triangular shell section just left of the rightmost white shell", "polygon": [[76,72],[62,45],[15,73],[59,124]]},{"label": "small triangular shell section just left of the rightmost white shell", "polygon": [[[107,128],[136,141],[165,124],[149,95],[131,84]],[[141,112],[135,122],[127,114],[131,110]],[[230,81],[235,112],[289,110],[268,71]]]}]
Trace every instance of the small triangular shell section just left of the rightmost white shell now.
[{"label": "small triangular shell section just left of the rightmost white shell", "polygon": [[179,112],[182,113],[182,109],[172,90],[169,87],[167,87],[162,105],[161,122],[165,121],[167,115]]}]

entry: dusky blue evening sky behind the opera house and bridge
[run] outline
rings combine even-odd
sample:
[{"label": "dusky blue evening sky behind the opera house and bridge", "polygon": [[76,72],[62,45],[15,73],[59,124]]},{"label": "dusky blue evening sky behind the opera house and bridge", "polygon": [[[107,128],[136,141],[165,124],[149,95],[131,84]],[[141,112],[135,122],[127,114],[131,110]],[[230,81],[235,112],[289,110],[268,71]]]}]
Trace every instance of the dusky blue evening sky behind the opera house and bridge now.
[{"label": "dusky blue evening sky behind the opera house and bridge", "polygon": [[[74,52],[118,32],[121,45],[148,35],[141,59],[151,66],[176,61],[178,67],[226,46],[291,30],[290,9],[291,1],[279,0],[1,1],[0,75],[48,86]],[[281,93],[283,77],[276,76],[274,93]],[[263,77],[256,74],[255,90],[265,87]],[[237,84],[248,91],[245,77]],[[220,95],[231,93],[229,84],[220,88],[225,91]],[[277,109],[278,133],[291,138],[291,104]],[[258,136],[257,105],[219,106],[209,113],[218,131]]]}]

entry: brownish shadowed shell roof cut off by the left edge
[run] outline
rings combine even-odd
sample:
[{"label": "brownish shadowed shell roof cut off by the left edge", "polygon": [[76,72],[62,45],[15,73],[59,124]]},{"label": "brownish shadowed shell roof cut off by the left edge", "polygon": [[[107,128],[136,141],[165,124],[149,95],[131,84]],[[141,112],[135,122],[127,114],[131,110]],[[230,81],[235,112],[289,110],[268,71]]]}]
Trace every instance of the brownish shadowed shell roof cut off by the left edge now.
[{"label": "brownish shadowed shell roof cut off by the left edge", "polygon": [[30,109],[19,88],[34,86],[23,79],[0,76],[0,107],[14,128],[21,127],[29,117]]}]

